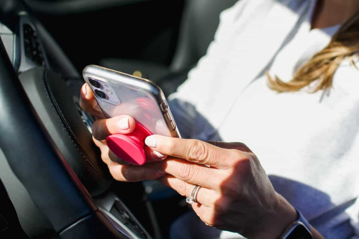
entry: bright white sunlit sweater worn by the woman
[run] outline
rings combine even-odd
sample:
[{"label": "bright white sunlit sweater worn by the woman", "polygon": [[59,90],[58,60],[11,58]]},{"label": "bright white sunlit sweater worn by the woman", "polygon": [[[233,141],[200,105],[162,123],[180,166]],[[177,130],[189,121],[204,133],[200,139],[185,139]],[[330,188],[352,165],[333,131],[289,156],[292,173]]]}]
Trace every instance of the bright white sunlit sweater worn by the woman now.
[{"label": "bright white sunlit sweater worn by the woman", "polygon": [[339,26],[310,30],[314,4],[241,0],[225,10],[169,104],[183,137],[247,144],[325,238],[350,238],[359,235],[359,71],[342,63],[333,88],[315,94],[278,94],[264,75],[289,81],[329,43]]}]

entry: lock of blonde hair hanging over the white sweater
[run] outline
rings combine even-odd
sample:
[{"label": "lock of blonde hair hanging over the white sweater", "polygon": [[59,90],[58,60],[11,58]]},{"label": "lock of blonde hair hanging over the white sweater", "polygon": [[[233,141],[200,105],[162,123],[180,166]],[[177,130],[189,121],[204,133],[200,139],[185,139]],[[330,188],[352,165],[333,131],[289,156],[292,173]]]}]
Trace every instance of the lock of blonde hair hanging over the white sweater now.
[{"label": "lock of blonde hair hanging over the white sweater", "polygon": [[[332,87],[333,76],[342,61],[349,61],[355,66],[353,57],[359,53],[359,14],[347,20],[332,36],[328,46],[316,53],[304,64],[289,82],[272,78],[267,72],[267,84],[278,92],[299,91],[310,85],[308,92],[326,90]],[[357,68],[358,69],[358,68]]]}]

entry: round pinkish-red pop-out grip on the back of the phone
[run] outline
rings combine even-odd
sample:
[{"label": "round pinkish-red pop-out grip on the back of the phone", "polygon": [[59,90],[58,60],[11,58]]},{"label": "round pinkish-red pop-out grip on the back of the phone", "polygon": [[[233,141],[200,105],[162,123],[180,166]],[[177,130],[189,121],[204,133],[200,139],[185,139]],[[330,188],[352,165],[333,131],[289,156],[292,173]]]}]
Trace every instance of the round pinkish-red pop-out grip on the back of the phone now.
[{"label": "round pinkish-red pop-out grip on the back of the phone", "polygon": [[136,123],[135,130],[130,134],[113,134],[107,137],[108,147],[121,159],[137,165],[146,162],[144,140],[151,132]]}]

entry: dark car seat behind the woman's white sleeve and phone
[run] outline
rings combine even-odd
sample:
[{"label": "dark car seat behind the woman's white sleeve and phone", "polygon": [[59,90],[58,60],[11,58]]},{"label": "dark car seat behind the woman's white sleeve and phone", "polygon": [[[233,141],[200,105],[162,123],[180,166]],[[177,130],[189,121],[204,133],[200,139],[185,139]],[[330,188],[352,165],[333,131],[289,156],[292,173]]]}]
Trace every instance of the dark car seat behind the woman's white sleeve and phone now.
[{"label": "dark car seat behind the woman's white sleeve and phone", "polygon": [[219,23],[219,14],[237,0],[187,0],[180,33],[169,66],[123,58],[101,59],[101,66],[133,74],[135,71],[157,83],[165,95],[176,91],[188,71],[206,54]]}]

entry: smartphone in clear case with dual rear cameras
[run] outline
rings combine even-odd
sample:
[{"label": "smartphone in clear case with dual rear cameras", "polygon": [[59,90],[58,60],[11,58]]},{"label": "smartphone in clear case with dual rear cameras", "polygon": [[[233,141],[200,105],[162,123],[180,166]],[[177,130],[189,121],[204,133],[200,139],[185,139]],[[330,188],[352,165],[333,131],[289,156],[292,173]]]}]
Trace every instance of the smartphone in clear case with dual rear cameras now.
[{"label": "smartphone in clear case with dual rear cameras", "polygon": [[162,90],[144,78],[89,65],[83,70],[106,118],[130,115],[152,134],[180,138]]}]

